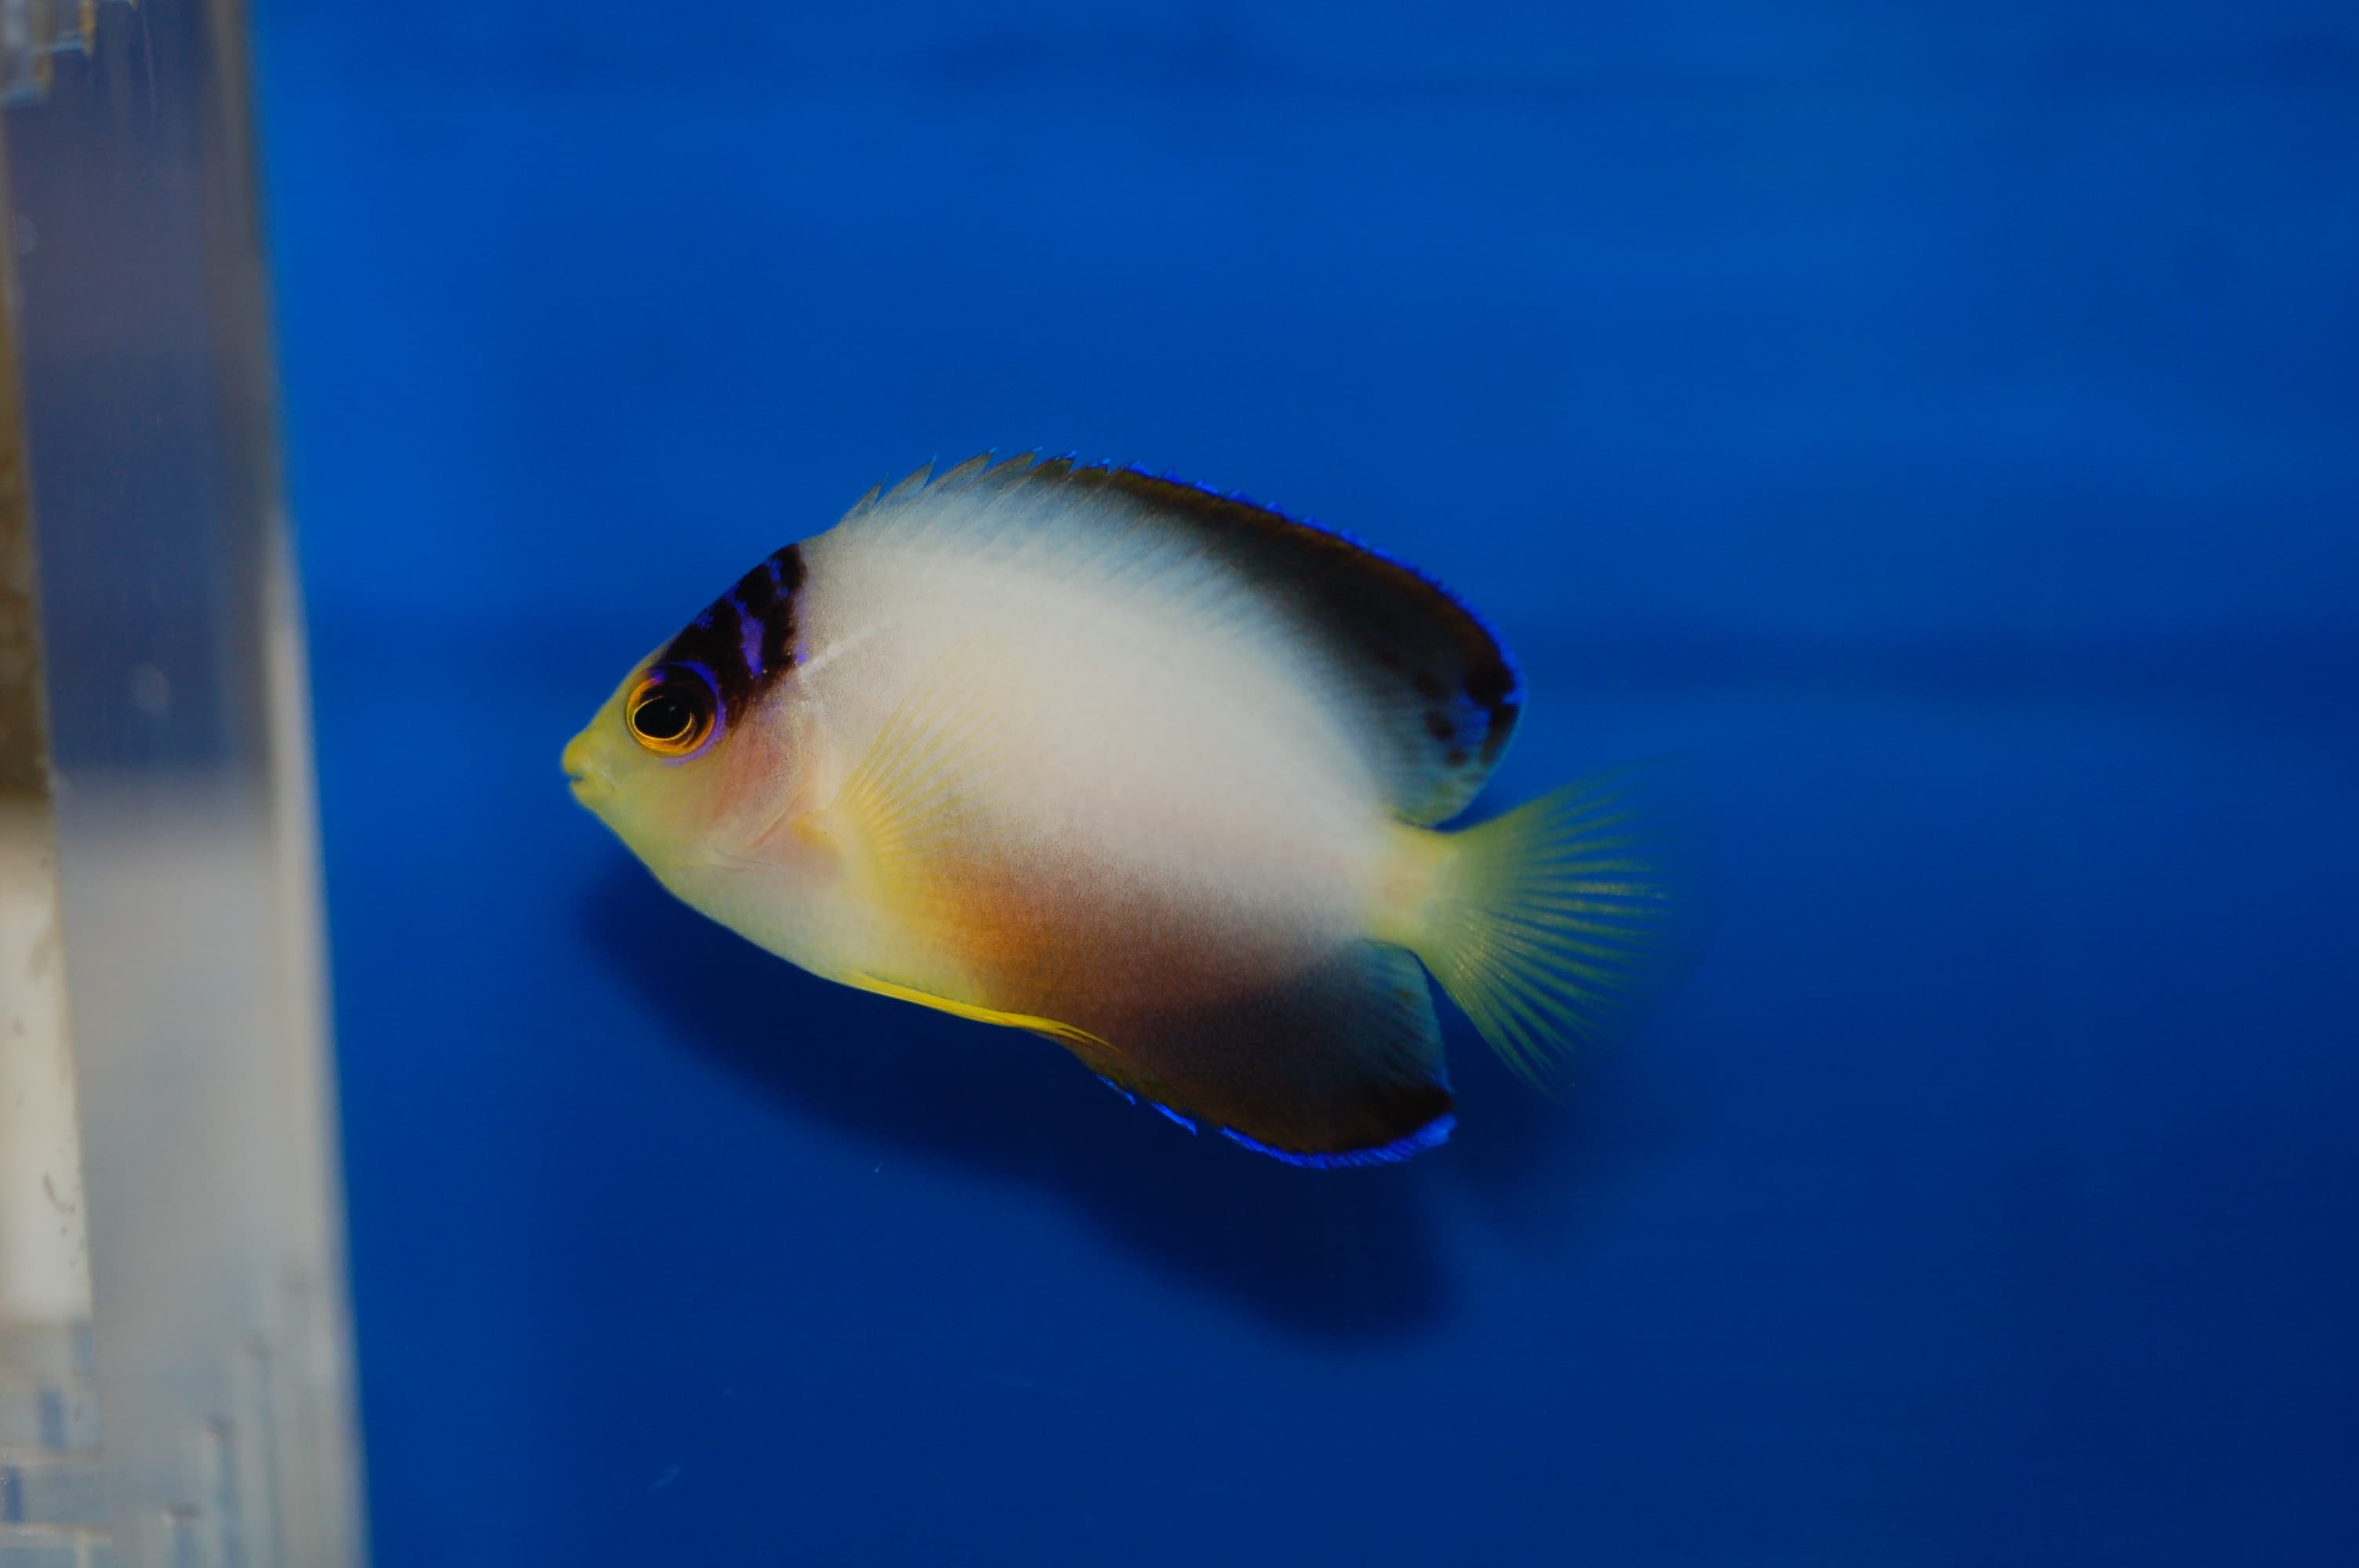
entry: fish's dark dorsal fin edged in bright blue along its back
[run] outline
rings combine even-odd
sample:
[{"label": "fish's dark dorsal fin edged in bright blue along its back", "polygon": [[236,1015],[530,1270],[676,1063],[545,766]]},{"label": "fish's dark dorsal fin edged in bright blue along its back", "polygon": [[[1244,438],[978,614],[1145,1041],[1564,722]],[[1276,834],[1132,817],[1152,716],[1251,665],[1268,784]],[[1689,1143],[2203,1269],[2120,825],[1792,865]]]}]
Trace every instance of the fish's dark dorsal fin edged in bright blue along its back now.
[{"label": "fish's dark dorsal fin edged in bright blue along its back", "polygon": [[1080,564],[1106,578],[1210,566],[1264,601],[1347,684],[1387,804],[1439,823],[1474,799],[1524,705],[1484,620],[1420,571],[1241,495],[1132,467],[970,457],[861,498],[842,528],[929,549]]}]

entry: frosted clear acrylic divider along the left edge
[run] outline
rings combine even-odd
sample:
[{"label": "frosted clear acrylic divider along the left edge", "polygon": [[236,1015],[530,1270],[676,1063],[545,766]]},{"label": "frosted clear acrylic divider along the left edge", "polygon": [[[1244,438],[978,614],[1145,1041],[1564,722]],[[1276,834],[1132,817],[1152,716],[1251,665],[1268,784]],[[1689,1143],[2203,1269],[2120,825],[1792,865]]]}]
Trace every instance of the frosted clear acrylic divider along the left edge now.
[{"label": "frosted clear acrylic divider along the left edge", "polygon": [[344,1568],[243,12],[0,0],[0,1568]]}]

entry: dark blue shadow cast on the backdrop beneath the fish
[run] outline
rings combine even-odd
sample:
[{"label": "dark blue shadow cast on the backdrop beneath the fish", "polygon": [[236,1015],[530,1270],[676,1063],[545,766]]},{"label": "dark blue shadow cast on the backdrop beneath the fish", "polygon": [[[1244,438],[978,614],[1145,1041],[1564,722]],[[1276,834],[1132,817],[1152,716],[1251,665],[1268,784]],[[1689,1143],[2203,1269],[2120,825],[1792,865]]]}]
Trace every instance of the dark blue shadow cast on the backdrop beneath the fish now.
[{"label": "dark blue shadow cast on the backdrop beneath the fish", "polygon": [[[592,884],[583,922],[672,1035],[795,1115],[1054,1191],[1128,1250],[1300,1332],[1399,1337],[1448,1313],[1430,1186],[1456,1151],[1314,1172],[1187,1137],[1045,1040],[819,981],[715,929],[635,865]],[[698,983],[679,986],[682,974]],[[1505,1151],[1552,1141],[1533,1127],[1489,1132],[1498,1146],[1460,1172],[1484,1184],[1529,1179],[1543,1162]]]}]

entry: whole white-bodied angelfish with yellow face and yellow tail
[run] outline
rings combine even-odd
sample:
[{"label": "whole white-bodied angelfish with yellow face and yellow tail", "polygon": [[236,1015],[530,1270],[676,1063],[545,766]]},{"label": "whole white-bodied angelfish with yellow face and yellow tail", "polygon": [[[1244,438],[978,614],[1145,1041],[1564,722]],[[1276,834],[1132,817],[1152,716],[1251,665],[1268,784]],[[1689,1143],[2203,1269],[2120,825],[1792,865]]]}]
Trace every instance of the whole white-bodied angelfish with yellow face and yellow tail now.
[{"label": "whole white-bodied angelfish with yellow face and yellow tail", "polygon": [[1677,946],[1677,835],[1632,769],[1441,828],[1524,696],[1486,620],[1352,535],[986,453],[764,556],[561,764],[764,950],[1354,1167],[1456,1127],[1427,974],[1548,1087]]}]

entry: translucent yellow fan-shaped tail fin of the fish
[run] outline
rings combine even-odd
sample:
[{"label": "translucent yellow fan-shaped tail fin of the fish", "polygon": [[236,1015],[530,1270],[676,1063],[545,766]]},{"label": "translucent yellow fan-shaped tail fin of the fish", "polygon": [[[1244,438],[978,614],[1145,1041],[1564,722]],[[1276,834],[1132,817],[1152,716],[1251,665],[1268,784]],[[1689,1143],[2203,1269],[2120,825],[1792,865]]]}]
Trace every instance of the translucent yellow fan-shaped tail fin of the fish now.
[{"label": "translucent yellow fan-shaped tail fin of the fish", "polygon": [[1463,832],[1404,830],[1404,946],[1533,1082],[1658,990],[1687,948],[1684,813],[1647,773],[1599,773]]}]

